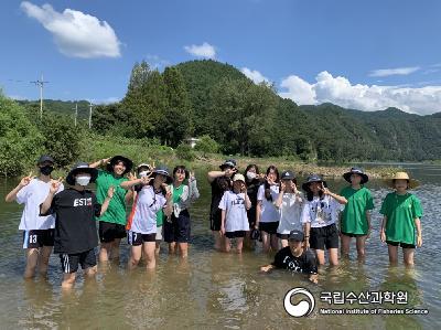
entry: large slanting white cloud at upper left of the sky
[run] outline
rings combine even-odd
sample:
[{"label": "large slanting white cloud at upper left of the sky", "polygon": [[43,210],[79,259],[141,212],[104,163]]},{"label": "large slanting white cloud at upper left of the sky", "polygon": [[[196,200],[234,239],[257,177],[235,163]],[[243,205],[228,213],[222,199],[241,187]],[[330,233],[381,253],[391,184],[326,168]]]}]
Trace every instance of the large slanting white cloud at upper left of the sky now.
[{"label": "large slanting white cloud at upper left of the sky", "polygon": [[77,10],[55,11],[51,4],[23,1],[21,9],[52,33],[58,51],[72,57],[119,57],[120,42],[114,29],[96,17]]}]

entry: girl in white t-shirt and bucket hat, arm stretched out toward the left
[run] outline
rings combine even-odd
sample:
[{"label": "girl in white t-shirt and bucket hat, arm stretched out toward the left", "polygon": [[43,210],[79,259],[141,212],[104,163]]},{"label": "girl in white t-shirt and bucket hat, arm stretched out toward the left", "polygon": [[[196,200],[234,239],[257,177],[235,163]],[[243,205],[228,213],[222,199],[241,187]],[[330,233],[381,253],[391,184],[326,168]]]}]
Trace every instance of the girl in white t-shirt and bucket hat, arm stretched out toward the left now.
[{"label": "girl in white t-shirt and bucket hat, arm stretched out toward the left", "polygon": [[165,167],[158,167],[147,177],[121,183],[123,189],[136,187],[137,190],[137,202],[127,223],[127,238],[128,244],[131,245],[129,269],[138,266],[142,253],[146,257],[147,269],[154,269],[157,266],[154,255],[157,213],[163,209],[165,216],[172,214],[172,193],[168,185],[171,183],[172,178]]}]

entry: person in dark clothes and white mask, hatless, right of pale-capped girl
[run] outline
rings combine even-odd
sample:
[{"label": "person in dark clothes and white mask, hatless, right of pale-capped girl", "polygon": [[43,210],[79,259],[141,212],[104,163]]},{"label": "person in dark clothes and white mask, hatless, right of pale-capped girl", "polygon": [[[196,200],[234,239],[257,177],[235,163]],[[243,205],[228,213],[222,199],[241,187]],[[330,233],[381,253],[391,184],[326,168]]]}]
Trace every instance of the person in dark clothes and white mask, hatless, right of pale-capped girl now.
[{"label": "person in dark clothes and white mask, hatless, right of pale-capped girl", "polygon": [[245,184],[247,187],[247,194],[251,201],[251,207],[247,210],[248,223],[251,231],[246,232],[244,239],[245,246],[254,248],[256,239],[259,237],[259,231],[255,228],[256,225],[256,206],[257,206],[257,192],[259,187],[265,181],[265,175],[260,174],[257,164],[249,164],[245,169]]}]

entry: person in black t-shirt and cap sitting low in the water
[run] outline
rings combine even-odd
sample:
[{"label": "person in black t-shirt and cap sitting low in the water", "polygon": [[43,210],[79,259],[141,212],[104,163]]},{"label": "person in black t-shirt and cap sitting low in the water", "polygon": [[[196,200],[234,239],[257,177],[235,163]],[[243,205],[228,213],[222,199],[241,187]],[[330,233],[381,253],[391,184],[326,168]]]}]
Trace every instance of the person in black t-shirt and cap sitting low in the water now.
[{"label": "person in black t-shirt and cap sitting low in the water", "polygon": [[260,270],[268,273],[273,268],[283,268],[293,273],[309,275],[309,279],[318,284],[318,266],[314,254],[310,249],[303,248],[303,233],[291,231],[289,235],[289,246],[280,249],[275,260],[270,265],[261,266]]}]

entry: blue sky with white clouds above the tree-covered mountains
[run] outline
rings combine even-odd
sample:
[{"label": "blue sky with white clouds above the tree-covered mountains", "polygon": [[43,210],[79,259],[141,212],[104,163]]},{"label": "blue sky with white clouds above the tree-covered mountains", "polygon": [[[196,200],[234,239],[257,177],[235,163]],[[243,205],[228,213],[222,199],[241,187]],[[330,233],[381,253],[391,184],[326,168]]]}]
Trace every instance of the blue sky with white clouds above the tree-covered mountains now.
[{"label": "blue sky with white clouds above the tree-covered mountains", "polygon": [[47,0],[0,2],[0,88],[109,103],[146,60],[212,58],[299,105],[441,111],[438,0]]}]

